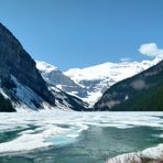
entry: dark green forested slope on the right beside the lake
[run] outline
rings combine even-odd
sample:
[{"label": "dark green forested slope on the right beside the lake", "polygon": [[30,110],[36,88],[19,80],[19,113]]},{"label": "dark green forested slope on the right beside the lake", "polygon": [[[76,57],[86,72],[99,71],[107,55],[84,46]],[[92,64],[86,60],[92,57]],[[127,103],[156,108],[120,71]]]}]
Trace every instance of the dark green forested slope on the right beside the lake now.
[{"label": "dark green forested slope on the right beside the lake", "polygon": [[163,61],[108,89],[95,110],[162,111]]}]

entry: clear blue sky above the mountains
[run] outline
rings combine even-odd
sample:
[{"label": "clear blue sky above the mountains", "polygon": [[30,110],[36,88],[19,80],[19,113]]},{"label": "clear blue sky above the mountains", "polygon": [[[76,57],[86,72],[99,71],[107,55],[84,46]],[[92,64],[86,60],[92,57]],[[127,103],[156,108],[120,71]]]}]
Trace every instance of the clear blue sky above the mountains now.
[{"label": "clear blue sky above the mountains", "polygon": [[62,70],[163,47],[163,0],[0,0],[0,21],[33,58]]}]

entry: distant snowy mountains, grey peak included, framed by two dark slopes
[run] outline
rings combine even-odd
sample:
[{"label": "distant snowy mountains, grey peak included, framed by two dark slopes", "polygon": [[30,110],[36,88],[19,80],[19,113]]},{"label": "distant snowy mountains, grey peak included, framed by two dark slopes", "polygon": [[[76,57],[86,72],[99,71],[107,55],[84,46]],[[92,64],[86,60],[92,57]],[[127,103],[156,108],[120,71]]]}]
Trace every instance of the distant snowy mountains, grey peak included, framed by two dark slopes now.
[{"label": "distant snowy mountains, grey peak included, framed by two dark slopes", "polygon": [[58,89],[94,105],[113,84],[155,65],[161,58],[142,62],[105,63],[86,68],[72,68],[62,73],[45,62],[36,62],[43,78]]}]

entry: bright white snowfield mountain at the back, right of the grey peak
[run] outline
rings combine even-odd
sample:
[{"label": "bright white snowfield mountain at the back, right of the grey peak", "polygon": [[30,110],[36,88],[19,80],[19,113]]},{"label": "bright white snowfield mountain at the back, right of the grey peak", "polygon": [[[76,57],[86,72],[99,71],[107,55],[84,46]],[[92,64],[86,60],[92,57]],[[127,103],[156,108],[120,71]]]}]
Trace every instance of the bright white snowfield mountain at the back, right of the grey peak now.
[{"label": "bright white snowfield mountain at the back, right of the grey peak", "polygon": [[113,84],[131,77],[157,64],[161,58],[143,62],[105,63],[86,68],[73,68],[64,73],[87,90],[83,99],[95,104]]}]

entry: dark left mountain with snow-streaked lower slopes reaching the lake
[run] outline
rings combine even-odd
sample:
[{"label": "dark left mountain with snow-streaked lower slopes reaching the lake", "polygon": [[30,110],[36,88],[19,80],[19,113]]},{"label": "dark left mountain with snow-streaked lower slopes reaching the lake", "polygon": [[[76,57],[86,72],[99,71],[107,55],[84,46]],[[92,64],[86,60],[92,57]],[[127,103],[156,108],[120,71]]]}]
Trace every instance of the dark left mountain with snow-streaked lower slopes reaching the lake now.
[{"label": "dark left mountain with snow-streaked lower slopes reaching the lake", "polygon": [[[13,34],[1,23],[0,90],[2,104],[6,106],[12,105],[12,108],[18,111],[22,108],[25,110],[85,109],[79,99],[62,91],[56,93],[50,86],[47,87],[35,66],[35,62]],[[2,111],[9,111],[8,108],[0,107],[0,109],[3,109]]]}]

